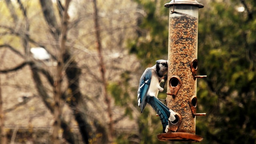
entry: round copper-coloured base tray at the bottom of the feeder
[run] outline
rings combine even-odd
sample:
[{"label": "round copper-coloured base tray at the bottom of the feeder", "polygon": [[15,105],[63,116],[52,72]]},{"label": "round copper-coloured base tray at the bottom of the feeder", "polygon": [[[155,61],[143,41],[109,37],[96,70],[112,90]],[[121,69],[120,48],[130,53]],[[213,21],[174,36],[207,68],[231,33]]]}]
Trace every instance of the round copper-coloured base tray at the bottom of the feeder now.
[{"label": "round copper-coloured base tray at the bottom of the feeder", "polygon": [[204,137],[186,132],[169,132],[157,135],[160,141],[201,142]]}]

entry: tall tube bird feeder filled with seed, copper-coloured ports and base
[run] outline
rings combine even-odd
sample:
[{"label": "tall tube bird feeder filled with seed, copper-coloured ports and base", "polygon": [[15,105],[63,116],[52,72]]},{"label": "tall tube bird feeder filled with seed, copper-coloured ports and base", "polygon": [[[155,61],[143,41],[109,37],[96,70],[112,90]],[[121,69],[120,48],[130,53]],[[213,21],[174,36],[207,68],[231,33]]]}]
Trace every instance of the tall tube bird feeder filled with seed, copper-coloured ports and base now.
[{"label": "tall tube bird feeder filled with seed, copper-coloured ports and base", "polygon": [[167,133],[159,134],[161,141],[200,142],[196,132],[196,80],[198,76],[198,9],[196,0],[172,0],[164,5],[169,13],[167,106],[176,112],[169,121]]}]

